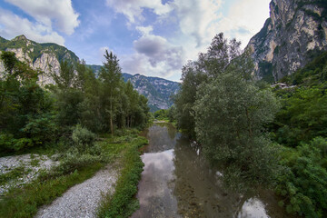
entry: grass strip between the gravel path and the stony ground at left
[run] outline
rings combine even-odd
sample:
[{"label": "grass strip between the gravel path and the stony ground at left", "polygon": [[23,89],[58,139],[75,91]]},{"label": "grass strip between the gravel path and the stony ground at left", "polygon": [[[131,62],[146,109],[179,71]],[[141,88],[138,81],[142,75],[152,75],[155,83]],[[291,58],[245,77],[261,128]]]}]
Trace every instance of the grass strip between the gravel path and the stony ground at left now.
[{"label": "grass strip between the gravel path and the stony ground at left", "polygon": [[23,189],[13,189],[0,200],[0,217],[33,217],[40,206],[53,202],[68,188],[91,178],[102,166],[102,163],[94,163],[74,173],[46,181],[36,180]]}]

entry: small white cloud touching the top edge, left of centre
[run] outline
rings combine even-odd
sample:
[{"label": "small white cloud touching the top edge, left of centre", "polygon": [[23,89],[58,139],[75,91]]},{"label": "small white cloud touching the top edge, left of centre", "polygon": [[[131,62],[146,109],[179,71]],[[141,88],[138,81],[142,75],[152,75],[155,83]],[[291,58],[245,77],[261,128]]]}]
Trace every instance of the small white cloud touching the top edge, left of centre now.
[{"label": "small white cloud touching the top edge, left of centre", "polygon": [[106,0],[106,4],[116,13],[124,14],[132,24],[144,20],[144,8],[152,9],[155,15],[166,15],[172,11],[170,4],[163,5],[161,0]]}]

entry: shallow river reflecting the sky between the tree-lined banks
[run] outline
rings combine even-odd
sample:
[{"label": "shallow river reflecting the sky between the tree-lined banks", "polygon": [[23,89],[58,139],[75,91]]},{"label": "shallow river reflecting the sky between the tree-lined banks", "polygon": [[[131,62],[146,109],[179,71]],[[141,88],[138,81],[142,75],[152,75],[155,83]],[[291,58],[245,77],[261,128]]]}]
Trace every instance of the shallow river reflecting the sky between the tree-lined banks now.
[{"label": "shallow river reflecting the sky between the tree-lined banks", "polygon": [[258,190],[244,196],[226,191],[200,150],[172,124],[154,124],[144,131],[144,172],[138,185],[137,217],[290,217],[273,193]]}]

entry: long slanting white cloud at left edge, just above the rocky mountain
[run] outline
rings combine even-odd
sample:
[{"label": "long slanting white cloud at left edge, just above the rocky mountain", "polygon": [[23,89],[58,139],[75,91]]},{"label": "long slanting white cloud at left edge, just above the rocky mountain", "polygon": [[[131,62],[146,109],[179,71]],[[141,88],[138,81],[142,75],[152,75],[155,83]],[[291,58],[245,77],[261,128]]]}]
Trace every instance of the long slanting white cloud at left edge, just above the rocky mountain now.
[{"label": "long slanting white cloud at left edge, just above the rocky mountain", "polygon": [[22,34],[38,43],[64,45],[64,37],[54,32],[51,27],[32,23],[25,18],[0,8],[0,35],[11,39]]}]

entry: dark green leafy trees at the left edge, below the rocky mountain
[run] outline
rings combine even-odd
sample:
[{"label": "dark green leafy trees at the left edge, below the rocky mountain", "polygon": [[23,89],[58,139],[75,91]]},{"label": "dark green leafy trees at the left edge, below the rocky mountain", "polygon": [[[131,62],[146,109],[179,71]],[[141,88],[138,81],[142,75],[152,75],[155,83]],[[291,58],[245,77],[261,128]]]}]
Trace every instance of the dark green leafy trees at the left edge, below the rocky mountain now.
[{"label": "dark green leafy trees at the left edge, below the rocky mountain", "polygon": [[[3,52],[0,79],[0,152],[19,151],[52,141],[53,100],[36,82],[39,72]],[[5,138],[7,141],[5,142]]]}]

